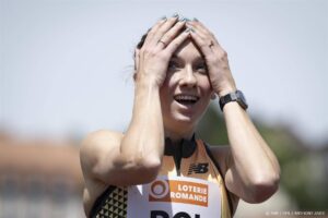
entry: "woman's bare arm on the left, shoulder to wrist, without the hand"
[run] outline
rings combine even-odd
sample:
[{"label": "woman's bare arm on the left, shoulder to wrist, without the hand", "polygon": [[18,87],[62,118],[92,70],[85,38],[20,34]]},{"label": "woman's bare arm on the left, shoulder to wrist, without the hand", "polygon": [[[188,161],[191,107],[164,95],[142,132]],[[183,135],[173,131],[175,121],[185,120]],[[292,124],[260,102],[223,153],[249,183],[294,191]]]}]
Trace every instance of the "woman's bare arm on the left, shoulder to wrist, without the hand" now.
[{"label": "woman's bare arm on the left, shoulder to wrist, without the hand", "polygon": [[82,145],[81,160],[91,167],[92,177],[107,184],[148,182],[161,165],[164,136],[159,92],[137,85],[134,93],[132,120],[126,134],[97,131]]}]

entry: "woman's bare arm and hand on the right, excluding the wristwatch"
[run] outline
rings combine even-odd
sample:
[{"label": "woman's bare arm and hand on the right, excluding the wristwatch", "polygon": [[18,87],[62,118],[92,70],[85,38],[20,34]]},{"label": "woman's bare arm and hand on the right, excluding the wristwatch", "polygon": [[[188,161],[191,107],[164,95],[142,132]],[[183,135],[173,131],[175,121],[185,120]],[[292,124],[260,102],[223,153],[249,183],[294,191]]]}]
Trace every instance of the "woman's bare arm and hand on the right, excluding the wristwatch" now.
[{"label": "woman's bare arm and hand on the right, excluding the wristwatch", "polygon": [[[203,24],[192,21],[189,25],[196,29],[191,37],[204,55],[213,92],[220,97],[235,92],[226,52]],[[262,202],[278,189],[278,160],[237,102],[225,105],[223,113],[231,145],[231,152],[225,157],[229,160],[225,184],[246,202]]]}]

